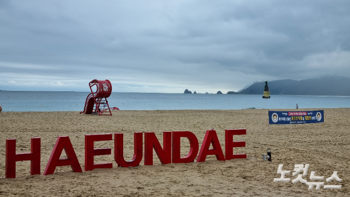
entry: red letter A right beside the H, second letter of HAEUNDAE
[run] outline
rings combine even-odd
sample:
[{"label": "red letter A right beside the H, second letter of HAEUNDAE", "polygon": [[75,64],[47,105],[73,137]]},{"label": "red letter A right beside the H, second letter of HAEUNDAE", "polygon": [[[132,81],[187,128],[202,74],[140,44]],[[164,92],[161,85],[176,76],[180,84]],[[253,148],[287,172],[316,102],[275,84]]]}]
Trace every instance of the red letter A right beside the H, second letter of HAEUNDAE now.
[{"label": "red letter A right beside the H, second letter of HAEUNDAE", "polygon": [[[63,149],[65,149],[67,158],[60,158]],[[76,158],[73,146],[71,145],[70,138],[68,136],[58,137],[49,162],[46,165],[44,175],[53,174],[56,166],[64,165],[70,165],[73,172],[82,172],[78,158]]]}]

